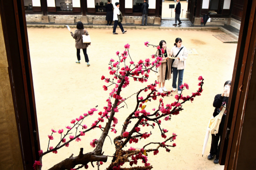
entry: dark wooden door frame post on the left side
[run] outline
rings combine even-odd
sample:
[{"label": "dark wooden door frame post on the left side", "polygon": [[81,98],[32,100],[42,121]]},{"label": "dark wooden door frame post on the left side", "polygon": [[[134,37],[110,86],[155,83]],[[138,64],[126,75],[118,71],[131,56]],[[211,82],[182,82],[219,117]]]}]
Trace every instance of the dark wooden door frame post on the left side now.
[{"label": "dark wooden door frame post on the left side", "polygon": [[23,168],[31,170],[40,143],[24,1],[0,0],[0,15]]}]

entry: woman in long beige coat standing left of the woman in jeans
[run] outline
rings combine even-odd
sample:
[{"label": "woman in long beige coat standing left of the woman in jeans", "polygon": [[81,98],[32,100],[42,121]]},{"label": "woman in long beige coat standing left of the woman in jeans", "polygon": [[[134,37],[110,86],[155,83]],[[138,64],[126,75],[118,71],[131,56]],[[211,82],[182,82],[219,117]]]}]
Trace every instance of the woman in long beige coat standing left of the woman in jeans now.
[{"label": "woman in long beige coat standing left of the woman in jeans", "polygon": [[[160,41],[159,43],[160,49],[156,52],[156,56],[161,55],[161,49],[164,50],[164,54],[161,55],[163,58],[162,64],[160,66],[160,75],[158,78],[158,92],[168,92],[168,90],[164,87],[165,80],[172,78],[172,59],[169,59],[168,57],[171,56],[171,50],[166,47],[166,42],[164,40]],[[162,86],[161,86],[162,85]]]}]

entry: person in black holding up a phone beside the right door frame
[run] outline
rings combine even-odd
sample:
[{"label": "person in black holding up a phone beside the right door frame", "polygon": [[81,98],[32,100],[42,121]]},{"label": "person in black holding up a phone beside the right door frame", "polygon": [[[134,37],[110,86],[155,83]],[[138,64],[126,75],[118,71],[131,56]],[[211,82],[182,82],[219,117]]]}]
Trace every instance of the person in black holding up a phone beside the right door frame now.
[{"label": "person in black holding up a phone beside the right door frame", "polygon": [[[229,92],[230,92],[230,86],[231,86],[231,81],[226,81],[224,84],[224,90],[222,94],[217,94],[214,98],[213,102],[213,107],[214,113],[213,116],[217,116],[221,109],[221,106],[228,106],[228,97],[229,97]],[[223,134],[223,129],[224,129],[224,123],[225,123],[225,117],[226,117],[226,111],[224,112],[219,130],[217,134],[212,134],[212,143],[211,143],[211,149],[210,149],[210,154],[208,155],[208,160],[212,160],[214,158],[214,155],[216,155],[216,158],[214,160],[214,164],[218,164],[219,162],[219,155],[220,155],[220,146],[221,146],[221,140],[222,140],[222,134]],[[218,145],[218,142],[220,140],[220,143]]]}]

